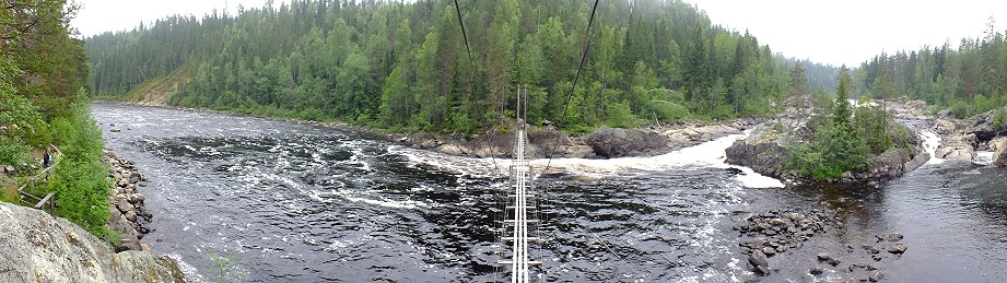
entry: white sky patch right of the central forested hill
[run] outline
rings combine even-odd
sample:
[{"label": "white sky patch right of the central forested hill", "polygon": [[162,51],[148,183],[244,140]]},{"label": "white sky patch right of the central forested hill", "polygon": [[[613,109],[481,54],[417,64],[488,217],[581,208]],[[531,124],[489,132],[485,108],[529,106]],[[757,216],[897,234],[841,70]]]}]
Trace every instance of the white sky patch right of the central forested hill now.
[{"label": "white sky patch right of the central forested hill", "polygon": [[705,10],[711,22],[745,32],[773,52],[848,67],[882,50],[916,50],[924,45],[957,49],[962,37],[982,37],[990,16],[1004,33],[1003,0],[686,0]]}]

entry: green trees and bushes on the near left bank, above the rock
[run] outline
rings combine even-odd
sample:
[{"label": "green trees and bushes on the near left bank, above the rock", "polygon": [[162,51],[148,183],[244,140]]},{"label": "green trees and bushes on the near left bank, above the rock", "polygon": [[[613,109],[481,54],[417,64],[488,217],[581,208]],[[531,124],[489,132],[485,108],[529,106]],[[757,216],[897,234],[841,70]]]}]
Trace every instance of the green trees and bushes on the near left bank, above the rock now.
[{"label": "green trees and bushes on the near left bank, above the rock", "polygon": [[72,1],[0,3],[0,166],[13,168],[0,175],[0,200],[20,203],[16,185],[37,176],[52,149],[61,154],[51,174],[26,191],[56,192],[56,216],[112,240],[104,141],[86,96],[84,43],[69,24],[79,9]]}]

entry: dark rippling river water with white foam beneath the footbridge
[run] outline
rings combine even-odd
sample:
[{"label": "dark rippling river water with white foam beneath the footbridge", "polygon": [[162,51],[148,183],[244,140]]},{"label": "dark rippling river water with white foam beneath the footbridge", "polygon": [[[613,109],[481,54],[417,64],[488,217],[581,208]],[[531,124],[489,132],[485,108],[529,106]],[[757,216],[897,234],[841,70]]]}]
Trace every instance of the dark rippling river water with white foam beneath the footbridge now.
[{"label": "dark rippling river water with white foam beneath the footbridge", "polygon": [[[485,282],[495,262],[494,196],[505,161],[449,157],[359,133],[213,113],[94,105],[107,146],[150,177],[156,229],[143,241],[216,281],[211,253],[247,282]],[[109,132],[115,123],[121,132]],[[649,158],[554,161],[540,177],[545,281],[731,282],[751,273],[735,221],[822,208],[843,225],[771,258],[764,281],[807,275],[822,250],[901,232],[886,258],[895,282],[1007,280],[1007,176],[968,163],[926,165],[880,189],[760,188],[717,158],[737,135]],[[719,151],[719,153],[718,153]],[[541,169],[545,163],[536,163]],[[854,259],[854,256],[851,256]]]}]

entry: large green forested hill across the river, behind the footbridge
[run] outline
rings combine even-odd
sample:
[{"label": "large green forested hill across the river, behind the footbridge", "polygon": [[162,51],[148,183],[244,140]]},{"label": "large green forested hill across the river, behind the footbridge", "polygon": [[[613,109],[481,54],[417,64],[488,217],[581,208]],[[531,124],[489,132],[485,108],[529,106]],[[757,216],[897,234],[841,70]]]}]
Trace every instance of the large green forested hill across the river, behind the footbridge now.
[{"label": "large green forested hill across the river, behind the footbridge", "polygon": [[[515,93],[527,87],[530,122],[576,132],[773,114],[796,63],[677,0],[600,1],[590,28],[594,1],[458,3],[269,1],[236,14],[169,16],[86,38],[90,91],[115,101],[157,91],[184,107],[473,133],[513,116]],[[836,68],[801,64],[811,90],[834,90]]]}]

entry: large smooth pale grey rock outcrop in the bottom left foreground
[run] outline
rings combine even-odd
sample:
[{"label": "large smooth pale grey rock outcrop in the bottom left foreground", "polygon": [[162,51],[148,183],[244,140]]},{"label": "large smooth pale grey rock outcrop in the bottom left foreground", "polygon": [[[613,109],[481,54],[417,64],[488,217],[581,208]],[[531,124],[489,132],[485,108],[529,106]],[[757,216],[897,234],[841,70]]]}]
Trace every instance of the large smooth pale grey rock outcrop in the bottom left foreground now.
[{"label": "large smooth pale grey rock outcrop in the bottom left foreground", "polygon": [[0,202],[0,282],[185,282],[174,260],[115,253],[70,221]]}]

